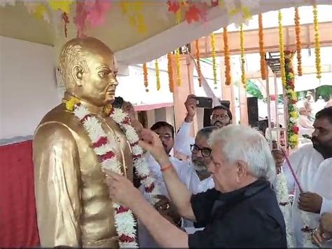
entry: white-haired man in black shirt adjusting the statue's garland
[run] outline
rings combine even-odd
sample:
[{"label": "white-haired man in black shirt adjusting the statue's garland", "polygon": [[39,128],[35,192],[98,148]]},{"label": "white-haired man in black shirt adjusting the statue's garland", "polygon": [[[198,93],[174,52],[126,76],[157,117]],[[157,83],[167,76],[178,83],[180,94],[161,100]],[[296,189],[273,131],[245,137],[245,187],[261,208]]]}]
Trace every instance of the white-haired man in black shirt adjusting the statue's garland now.
[{"label": "white-haired man in black shirt adjusting the statue's garland", "polygon": [[113,201],[132,209],[160,246],[286,248],[284,217],[270,184],[275,177],[275,163],[258,131],[230,125],[212,133],[209,172],[215,188],[196,195],[179,180],[158,136],[143,130],[141,137],[141,146],[160,164],[180,215],[205,225],[203,231],[186,234],[159,215],[129,180],[109,173],[107,182]]}]

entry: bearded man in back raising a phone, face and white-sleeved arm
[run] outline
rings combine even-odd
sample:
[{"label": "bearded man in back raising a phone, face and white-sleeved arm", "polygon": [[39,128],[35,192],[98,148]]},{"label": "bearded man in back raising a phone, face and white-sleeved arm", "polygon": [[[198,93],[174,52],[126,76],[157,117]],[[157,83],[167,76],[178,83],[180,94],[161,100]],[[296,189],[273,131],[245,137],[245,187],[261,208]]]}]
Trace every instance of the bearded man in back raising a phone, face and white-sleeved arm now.
[{"label": "bearded man in back raising a phone, face and white-sleeved arm", "polygon": [[[191,156],[190,144],[193,144],[194,142],[194,138],[191,137],[190,133],[191,123],[193,122],[197,109],[197,100],[195,97],[195,95],[188,95],[187,100],[184,103],[187,115],[174,141],[174,151],[189,157]],[[219,105],[214,107],[212,111],[211,126],[223,128],[223,126],[228,126],[232,123],[232,119],[233,115],[232,112],[230,112],[230,109],[224,105]]]}]

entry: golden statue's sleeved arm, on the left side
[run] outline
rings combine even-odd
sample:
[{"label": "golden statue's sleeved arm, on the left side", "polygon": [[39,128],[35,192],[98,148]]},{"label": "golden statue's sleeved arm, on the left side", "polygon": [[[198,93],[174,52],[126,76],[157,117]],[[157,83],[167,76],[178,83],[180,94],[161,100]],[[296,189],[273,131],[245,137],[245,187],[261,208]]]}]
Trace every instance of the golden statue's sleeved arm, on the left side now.
[{"label": "golden statue's sleeved arm, on the left side", "polygon": [[61,123],[46,123],[36,130],[34,177],[41,246],[81,247],[78,149]]}]

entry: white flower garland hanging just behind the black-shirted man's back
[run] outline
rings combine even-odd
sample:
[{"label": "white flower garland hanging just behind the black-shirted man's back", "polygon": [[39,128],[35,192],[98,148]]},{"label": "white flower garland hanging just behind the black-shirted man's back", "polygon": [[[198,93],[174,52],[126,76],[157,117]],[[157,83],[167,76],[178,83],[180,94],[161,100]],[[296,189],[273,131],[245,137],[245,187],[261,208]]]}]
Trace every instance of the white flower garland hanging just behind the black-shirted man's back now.
[{"label": "white flower garland hanging just behind the black-shirted man's back", "polygon": [[279,203],[282,215],[284,215],[284,221],[286,225],[286,238],[287,247],[293,248],[293,233],[291,232],[291,202],[289,201],[289,194],[287,188],[286,178],[283,173],[278,173],[275,179],[275,192],[277,194],[277,200]]}]

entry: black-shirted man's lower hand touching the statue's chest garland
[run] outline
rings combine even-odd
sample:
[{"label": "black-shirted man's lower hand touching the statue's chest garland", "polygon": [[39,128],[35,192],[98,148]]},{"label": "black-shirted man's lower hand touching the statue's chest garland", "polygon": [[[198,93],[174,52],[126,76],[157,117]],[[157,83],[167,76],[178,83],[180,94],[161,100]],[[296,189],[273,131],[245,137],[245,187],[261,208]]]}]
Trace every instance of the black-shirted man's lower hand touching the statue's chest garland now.
[{"label": "black-shirted man's lower hand touching the statue's chest garland", "polygon": [[123,175],[113,173],[110,170],[104,171],[106,173],[106,184],[109,186],[109,196],[112,198],[112,201],[132,209],[134,203],[144,198],[132,182],[123,177]]}]

